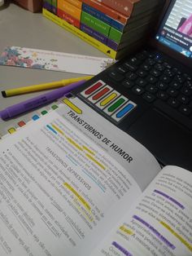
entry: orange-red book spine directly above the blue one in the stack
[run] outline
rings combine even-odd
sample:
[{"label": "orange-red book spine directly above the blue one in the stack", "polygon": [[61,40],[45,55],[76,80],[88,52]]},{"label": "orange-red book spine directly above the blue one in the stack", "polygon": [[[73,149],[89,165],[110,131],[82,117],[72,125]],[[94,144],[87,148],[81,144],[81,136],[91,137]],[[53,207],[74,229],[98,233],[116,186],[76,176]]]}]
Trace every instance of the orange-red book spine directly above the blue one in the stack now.
[{"label": "orange-red book spine directly above the blue one in the stack", "polygon": [[120,21],[122,24],[126,24],[129,20],[129,17],[122,15],[120,12],[111,9],[110,7],[104,6],[101,2],[98,2],[97,0],[81,0],[82,2],[85,2],[90,7],[94,7],[98,11],[103,12],[105,15],[110,16],[111,18]]}]

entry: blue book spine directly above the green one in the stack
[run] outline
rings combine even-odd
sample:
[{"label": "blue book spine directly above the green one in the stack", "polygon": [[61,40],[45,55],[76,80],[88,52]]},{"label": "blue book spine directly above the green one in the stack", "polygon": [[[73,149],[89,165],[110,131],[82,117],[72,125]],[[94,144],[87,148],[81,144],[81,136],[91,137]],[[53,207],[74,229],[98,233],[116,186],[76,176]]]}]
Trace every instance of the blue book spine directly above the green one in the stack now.
[{"label": "blue book spine directly above the green one in the stack", "polygon": [[104,14],[102,11],[98,11],[94,7],[90,7],[89,5],[87,5],[84,2],[83,2],[83,5],[82,5],[82,11],[85,11],[85,12],[89,13],[89,15],[94,16],[98,20],[102,20],[103,22],[105,22],[107,24],[110,24],[115,29],[118,29],[120,31],[124,30],[124,24],[121,24],[117,20],[112,19],[108,15]]}]

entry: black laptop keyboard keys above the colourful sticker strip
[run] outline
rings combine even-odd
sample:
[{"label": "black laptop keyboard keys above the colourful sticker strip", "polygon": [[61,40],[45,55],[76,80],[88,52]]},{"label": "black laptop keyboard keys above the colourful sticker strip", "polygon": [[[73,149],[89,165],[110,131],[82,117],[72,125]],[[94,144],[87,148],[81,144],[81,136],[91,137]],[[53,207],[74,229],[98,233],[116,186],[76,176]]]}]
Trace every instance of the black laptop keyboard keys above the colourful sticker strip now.
[{"label": "black laptop keyboard keys above the colourful sticker strip", "polygon": [[192,75],[163,55],[142,51],[109,69],[107,76],[192,130]]}]

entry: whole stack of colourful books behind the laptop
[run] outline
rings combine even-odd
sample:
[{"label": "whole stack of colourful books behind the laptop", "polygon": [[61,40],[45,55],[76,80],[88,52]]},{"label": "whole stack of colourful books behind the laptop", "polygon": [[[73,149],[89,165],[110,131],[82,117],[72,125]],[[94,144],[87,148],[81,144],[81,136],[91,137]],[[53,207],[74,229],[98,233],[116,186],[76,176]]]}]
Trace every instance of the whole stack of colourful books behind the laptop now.
[{"label": "whole stack of colourful books behind the laptop", "polygon": [[44,0],[43,15],[120,59],[154,28],[164,0]]}]

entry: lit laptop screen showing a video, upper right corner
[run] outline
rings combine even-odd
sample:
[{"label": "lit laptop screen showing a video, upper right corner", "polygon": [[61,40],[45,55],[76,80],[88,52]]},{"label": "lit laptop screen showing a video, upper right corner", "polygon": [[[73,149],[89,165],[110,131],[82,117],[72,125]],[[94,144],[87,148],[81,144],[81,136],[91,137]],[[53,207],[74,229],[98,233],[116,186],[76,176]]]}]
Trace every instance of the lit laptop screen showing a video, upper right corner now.
[{"label": "lit laptop screen showing a video, upper right corner", "polygon": [[156,39],[192,58],[192,0],[172,1],[161,22]]}]

